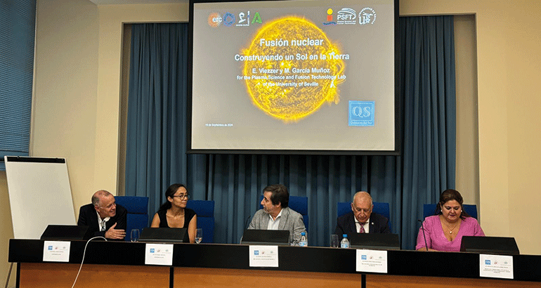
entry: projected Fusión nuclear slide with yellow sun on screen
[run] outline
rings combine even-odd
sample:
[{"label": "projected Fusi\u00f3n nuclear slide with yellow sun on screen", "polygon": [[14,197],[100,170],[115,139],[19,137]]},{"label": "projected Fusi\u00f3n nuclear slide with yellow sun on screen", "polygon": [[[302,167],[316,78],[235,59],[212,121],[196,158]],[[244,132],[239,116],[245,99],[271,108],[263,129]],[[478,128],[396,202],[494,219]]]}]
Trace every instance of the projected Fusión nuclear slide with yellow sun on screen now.
[{"label": "projected Fusi\u00f3n nuclear slide with yellow sun on screen", "polygon": [[394,152],[396,4],[190,2],[188,152]]}]

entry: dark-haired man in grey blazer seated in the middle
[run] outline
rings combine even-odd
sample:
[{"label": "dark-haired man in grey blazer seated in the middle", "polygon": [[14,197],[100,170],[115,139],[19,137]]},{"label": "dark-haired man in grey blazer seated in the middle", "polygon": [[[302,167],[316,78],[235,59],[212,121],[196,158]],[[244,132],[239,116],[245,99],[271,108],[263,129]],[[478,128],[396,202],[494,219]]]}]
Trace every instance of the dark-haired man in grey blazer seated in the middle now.
[{"label": "dark-haired man in grey blazer seated in the middle", "polygon": [[[289,192],[281,184],[263,189],[263,209],[256,211],[248,229],[289,230],[289,244],[298,245],[301,233],[306,233],[302,215],[289,209]],[[308,233],[306,233],[308,235]]]}]

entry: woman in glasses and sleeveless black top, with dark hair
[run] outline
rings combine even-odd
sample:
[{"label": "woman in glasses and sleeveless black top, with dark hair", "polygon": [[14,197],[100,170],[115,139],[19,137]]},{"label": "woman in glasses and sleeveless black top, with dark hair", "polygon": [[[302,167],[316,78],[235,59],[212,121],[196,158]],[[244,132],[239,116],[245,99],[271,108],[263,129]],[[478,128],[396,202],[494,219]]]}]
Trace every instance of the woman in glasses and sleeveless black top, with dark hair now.
[{"label": "woman in glasses and sleeveless black top, with dark hair", "polygon": [[188,190],[182,184],[173,184],[165,191],[165,198],[167,201],[159,207],[150,227],[188,228],[190,243],[195,243],[197,215],[186,208]]}]

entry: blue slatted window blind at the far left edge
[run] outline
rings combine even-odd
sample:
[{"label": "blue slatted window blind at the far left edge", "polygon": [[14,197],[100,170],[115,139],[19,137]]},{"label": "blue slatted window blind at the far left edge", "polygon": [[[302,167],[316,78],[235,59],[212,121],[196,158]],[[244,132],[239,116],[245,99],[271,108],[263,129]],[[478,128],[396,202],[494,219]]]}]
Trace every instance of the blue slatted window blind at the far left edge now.
[{"label": "blue slatted window blind at the far left edge", "polygon": [[0,171],[4,156],[28,156],[36,0],[0,2]]}]

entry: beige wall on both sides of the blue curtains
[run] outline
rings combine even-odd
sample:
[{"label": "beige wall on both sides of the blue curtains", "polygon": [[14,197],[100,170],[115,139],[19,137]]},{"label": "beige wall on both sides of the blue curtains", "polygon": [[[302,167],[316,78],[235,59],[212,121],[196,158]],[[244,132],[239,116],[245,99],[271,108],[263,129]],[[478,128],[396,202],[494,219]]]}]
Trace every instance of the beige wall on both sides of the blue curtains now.
[{"label": "beige wall on both sides of the blue curtains", "polygon": [[[538,11],[541,1],[400,1],[402,15],[476,17],[481,225],[488,235],[516,237],[523,254],[541,254],[535,241],[541,218],[526,206],[541,202]],[[187,15],[187,4],[98,7],[87,0],[38,0],[31,153],[67,158],[74,207],[89,202],[98,188],[117,193],[122,23],[180,22]],[[0,174],[0,257],[7,259],[13,231],[5,178]],[[8,270],[6,261],[0,270]]]}]

